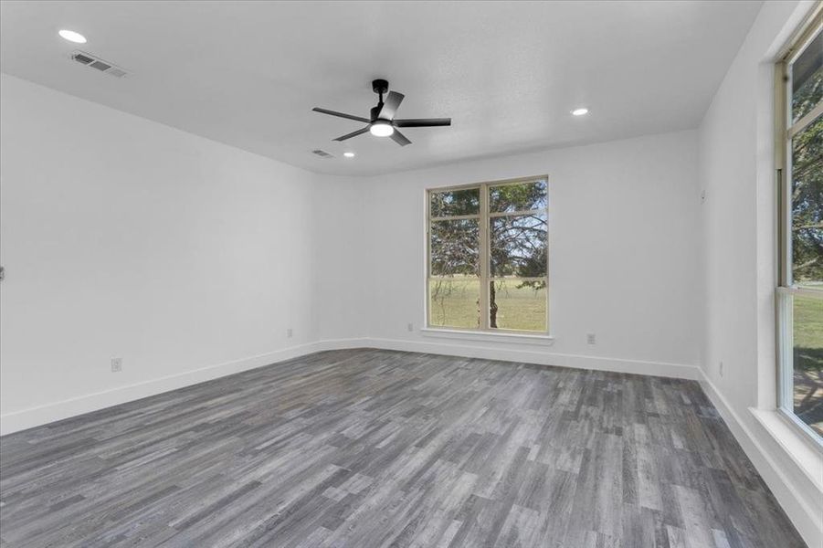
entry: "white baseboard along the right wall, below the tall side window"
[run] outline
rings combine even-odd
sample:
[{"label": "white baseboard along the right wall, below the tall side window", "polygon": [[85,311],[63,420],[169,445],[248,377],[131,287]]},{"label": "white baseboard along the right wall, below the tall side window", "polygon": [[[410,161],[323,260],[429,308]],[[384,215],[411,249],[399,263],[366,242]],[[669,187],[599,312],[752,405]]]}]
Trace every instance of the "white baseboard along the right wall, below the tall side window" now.
[{"label": "white baseboard along the right wall, below the tall side window", "polygon": [[[810,497],[807,492],[817,490],[817,487],[812,482],[803,482],[801,485],[797,485],[797,481],[792,481],[786,474],[785,467],[778,465],[780,463],[781,465],[792,466],[792,458],[787,454],[780,455],[779,452],[782,450],[780,448],[773,450],[766,448],[760,439],[754,435],[752,429],[747,427],[741,417],[735,413],[732,406],[729,405],[729,402],[712,383],[712,380],[704,374],[702,369],[700,374],[703,392],[706,393],[712,401],[712,405],[723,417],[723,421],[732,430],[737,443],[740,444],[746,456],[752,461],[754,468],[757,469],[765,484],[772,490],[780,506],[786,511],[789,520],[797,528],[797,532],[800,533],[800,536],[803,537],[803,540],[810,548],[823,546],[823,518],[821,518],[823,513],[820,513],[819,509],[816,510],[813,503],[809,503]],[[815,496],[821,497],[819,493],[813,493],[811,499],[814,500]],[[821,506],[821,504],[818,504],[818,506]]]}]

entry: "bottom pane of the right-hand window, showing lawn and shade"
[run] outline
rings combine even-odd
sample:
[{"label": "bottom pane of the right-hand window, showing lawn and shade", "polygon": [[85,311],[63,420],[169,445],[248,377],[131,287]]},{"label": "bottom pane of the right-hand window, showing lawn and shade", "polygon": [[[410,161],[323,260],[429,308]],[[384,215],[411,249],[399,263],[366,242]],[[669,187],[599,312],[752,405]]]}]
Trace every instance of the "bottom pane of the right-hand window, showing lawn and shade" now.
[{"label": "bottom pane of the right-hand window, showing lawn and shade", "polygon": [[795,295],[794,411],[823,436],[823,300]]}]

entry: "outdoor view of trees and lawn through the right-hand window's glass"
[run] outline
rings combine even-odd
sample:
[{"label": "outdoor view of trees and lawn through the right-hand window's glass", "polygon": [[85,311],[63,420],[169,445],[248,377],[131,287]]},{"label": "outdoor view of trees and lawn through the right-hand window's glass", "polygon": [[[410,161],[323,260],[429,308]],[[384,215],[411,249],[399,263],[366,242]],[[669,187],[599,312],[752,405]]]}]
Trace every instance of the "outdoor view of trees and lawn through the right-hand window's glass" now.
[{"label": "outdoor view of trees and lawn through the right-hand window's glass", "polygon": [[[791,124],[823,100],[823,34],[792,65]],[[792,279],[820,297],[795,295],[794,411],[823,436],[823,116],[792,139]]]}]

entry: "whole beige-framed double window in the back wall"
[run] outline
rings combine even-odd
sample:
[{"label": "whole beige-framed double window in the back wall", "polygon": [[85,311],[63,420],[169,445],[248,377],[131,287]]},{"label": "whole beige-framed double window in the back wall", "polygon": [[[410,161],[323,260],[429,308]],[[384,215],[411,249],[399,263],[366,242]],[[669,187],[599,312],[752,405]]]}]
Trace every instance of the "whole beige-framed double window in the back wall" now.
[{"label": "whole beige-framed double window in the back wall", "polygon": [[548,332],[548,179],[427,191],[427,325]]}]

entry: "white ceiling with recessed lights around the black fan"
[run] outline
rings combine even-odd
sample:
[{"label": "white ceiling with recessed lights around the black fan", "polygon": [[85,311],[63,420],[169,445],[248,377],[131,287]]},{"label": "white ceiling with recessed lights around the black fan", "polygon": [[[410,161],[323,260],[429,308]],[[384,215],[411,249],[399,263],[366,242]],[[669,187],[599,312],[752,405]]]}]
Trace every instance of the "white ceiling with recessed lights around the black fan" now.
[{"label": "white ceiling with recessed lights around the black fan", "polygon": [[[0,69],[312,171],[379,174],[694,128],[760,5],[3,2]],[[130,75],[83,67],[75,48]],[[367,117],[375,78],[406,94],[399,118],[452,127],[404,130],[404,148],[332,142],[362,124],[311,108]]]}]

